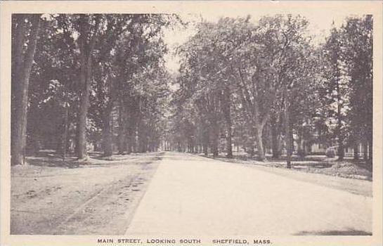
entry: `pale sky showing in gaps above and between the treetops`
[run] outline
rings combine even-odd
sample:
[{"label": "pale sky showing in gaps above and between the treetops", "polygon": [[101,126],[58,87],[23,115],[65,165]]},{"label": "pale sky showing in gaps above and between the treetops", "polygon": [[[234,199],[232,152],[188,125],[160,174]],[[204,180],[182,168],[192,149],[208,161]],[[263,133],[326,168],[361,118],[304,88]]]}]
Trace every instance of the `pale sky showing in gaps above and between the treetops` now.
[{"label": "pale sky showing in gaps above and between the treetops", "polygon": [[[174,48],[183,44],[188,40],[188,37],[195,33],[193,23],[200,22],[200,20],[207,20],[210,22],[217,22],[221,17],[246,17],[251,15],[254,22],[259,20],[264,15],[274,15],[273,11],[263,11],[262,13],[242,12],[226,13],[222,11],[214,11],[209,13],[181,13],[179,14],[183,20],[190,22],[186,28],[176,27],[174,29],[167,29],[164,32],[164,40],[170,48],[170,53],[165,57],[167,69],[170,72],[177,72],[179,68],[179,58],[174,56]],[[294,13],[293,13],[294,14]],[[349,13],[342,13],[342,11],[307,11],[307,13],[299,13],[309,20],[308,32],[313,35],[313,42],[320,44],[325,40],[325,37],[330,33],[332,22],[335,27],[340,27]]]}]

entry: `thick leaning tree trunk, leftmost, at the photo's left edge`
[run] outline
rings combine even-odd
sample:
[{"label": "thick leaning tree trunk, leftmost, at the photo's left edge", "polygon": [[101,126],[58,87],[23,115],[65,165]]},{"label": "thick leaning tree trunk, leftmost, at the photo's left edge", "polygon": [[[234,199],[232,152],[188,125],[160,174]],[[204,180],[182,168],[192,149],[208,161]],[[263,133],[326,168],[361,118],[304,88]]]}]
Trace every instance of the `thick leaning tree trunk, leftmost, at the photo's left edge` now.
[{"label": "thick leaning tree trunk, leftmost, at the photo's left edge", "polygon": [[15,35],[14,71],[12,71],[12,133],[11,133],[11,164],[25,164],[25,141],[27,130],[28,87],[30,72],[36,51],[39,34],[40,15],[28,15],[32,24],[30,38],[24,58],[25,45],[25,15],[18,16],[18,27]]}]

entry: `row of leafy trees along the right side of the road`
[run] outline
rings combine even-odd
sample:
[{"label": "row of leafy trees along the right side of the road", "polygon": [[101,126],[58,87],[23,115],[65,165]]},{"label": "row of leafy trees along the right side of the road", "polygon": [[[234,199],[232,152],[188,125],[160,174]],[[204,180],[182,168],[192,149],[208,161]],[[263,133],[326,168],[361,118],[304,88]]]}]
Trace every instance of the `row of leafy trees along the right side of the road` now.
[{"label": "row of leafy trees along the right side of the road", "polygon": [[202,21],[178,48],[178,89],[171,101],[167,147],[190,153],[232,146],[266,159],[294,143],[307,154],[313,143],[358,145],[372,162],[372,15],[333,25],[323,44],[313,44],[309,22],[274,15]]}]

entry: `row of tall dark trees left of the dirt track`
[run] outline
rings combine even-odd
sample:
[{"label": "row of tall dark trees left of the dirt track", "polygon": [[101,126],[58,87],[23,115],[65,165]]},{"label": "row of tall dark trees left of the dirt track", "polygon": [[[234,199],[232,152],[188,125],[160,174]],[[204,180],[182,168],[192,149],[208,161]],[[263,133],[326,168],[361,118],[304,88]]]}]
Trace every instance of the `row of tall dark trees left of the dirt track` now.
[{"label": "row of tall dark trees left of the dirt track", "polygon": [[[157,150],[176,15],[13,14],[11,162],[41,148],[86,160]],[[115,147],[114,147],[115,146]]]}]

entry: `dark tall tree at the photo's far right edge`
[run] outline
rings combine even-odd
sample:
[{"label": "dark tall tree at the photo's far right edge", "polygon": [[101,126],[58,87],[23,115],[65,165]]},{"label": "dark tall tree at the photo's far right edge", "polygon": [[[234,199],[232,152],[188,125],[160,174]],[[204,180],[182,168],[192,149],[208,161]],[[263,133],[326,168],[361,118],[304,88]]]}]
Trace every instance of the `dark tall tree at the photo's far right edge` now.
[{"label": "dark tall tree at the photo's far right edge", "polygon": [[372,163],[372,15],[349,18],[343,30],[344,60],[350,78],[348,117],[355,157],[358,144],[363,143],[365,160]]}]

